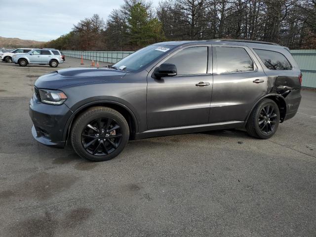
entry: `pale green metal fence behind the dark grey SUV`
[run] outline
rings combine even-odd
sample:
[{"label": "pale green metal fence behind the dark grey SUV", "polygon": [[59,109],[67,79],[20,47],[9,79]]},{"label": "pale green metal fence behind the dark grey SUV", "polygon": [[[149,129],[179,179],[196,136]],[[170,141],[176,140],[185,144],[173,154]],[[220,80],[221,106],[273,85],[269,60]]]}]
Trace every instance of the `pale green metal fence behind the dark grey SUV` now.
[{"label": "pale green metal fence behind the dark grey SUV", "polygon": [[[100,62],[116,63],[132,54],[133,51],[71,51],[63,50],[68,57],[81,58]],[[291,50],[295,61],[303,74],[303,86],[316,88],[316,49]]]}]

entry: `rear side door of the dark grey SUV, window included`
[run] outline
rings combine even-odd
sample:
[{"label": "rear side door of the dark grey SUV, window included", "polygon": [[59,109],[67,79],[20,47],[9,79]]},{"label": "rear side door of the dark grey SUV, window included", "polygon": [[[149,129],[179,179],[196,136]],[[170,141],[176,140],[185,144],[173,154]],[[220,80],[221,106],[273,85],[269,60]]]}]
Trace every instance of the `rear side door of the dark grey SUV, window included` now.
[{"label": "rear side door of the dark grey SUV, window included", "polygon": [[245,121],[266,92],[267,77],[247,46],[213,45],[210,123]]}]

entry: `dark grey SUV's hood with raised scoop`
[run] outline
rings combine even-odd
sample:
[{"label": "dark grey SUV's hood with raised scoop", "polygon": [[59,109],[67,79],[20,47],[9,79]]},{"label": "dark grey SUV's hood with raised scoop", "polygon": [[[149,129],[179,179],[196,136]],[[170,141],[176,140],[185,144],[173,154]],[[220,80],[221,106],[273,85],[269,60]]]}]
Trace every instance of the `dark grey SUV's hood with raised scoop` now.
[{"label": "dark grey SUV's hood with raised scoop", "polygon": [[59,89],[81,83],[112,81],[120,79],[126,72],[115,69],[69,68],[39,77],[34,85],[38,88]]}]

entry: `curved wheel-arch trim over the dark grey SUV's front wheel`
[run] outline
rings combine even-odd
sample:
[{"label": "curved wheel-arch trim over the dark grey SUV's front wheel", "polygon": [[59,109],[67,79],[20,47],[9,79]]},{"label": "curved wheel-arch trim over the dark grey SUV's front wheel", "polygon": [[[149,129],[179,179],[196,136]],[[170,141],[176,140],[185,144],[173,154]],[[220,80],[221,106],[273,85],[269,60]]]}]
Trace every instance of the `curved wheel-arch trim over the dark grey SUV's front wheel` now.
[{"label": "curved wheel-arch trim over the dark grey SUV's front wheel", "polygon": [[77,108],[75,111],[73,111],[73,114],[68,118],[66,124],[65,124],[65,128],[63,131],[63,140],[66,141],[67,140],[67,134],[69,135],[69,130],[71,128],[71,125],[73,123],[74,118],[76,117],[76,115],[78,115],[80,113],[80,111],[84,110],[87,107],[90,107],[92,105],[97,105],[97,104],[114,104],[114,105],[118,105],[122,108],[124,108],[132,117],[132,119],[134,120],[134,124],[135,124],[135,132],[138,131],[138,123],[137,123],[137,118],[135,116],[135,114],[133,113],[133,111],[131,109],[129,109],[126,105],[121,104],[119,102],[116,101],[112,101],[112,100],[98,100],[98,101],[93,101],[93,102],[89,102],[86,103],[84,105],[81,105],[79,108]]}]

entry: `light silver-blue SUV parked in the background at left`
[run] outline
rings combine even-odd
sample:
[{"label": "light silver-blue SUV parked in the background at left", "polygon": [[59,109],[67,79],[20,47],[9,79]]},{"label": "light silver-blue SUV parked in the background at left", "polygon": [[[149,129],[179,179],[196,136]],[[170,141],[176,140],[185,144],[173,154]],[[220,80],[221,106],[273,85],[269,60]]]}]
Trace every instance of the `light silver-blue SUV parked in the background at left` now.
[{"label": "light silver-blue SUV parked in the background at left", "polygon": [[61,53],[57,49],[33,49],[28,53],[12,56],[13,62],[25,67],[28,64],[49,64],[56,68],[58,64],[63,63]]}]

